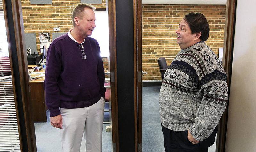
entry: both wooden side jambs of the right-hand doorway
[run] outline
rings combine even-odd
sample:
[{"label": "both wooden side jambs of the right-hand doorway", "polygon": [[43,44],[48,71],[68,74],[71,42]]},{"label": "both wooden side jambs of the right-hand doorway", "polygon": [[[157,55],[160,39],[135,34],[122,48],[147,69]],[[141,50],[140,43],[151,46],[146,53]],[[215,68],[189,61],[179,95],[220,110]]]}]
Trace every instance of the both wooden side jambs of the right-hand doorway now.
[{"label": "both wooden side jambs of the right-hand doorway", "polygon": [[[223,66],[227,73],[228,94],[230,94],[230,81],[232,72],[234,32],[236,21],[237,0],[227,0],[226,23],[224,32]],[[141,7],[141,8],[140,8]],[[142,4],[141,0],[134,0],[134,110],[135,115],[135,148],[136,152],[142,146]],[[136,54],[136,55],[135,55]],[[135,79],[136,78],[136,79]],[[136,81],[135,81],[136,80]],[[136,87],[135,87],[136,86]],[[136,95],[136,96],[135,96]],[[228,98],[229,103],[229,98]],[[219,131],[217,133],[216,152],[224,152],[226,144],[228,119],[228,104],[219,121]],[[137,124],[137,125],[136,125]],[[142,149],[142,147],[141,147]]]}]

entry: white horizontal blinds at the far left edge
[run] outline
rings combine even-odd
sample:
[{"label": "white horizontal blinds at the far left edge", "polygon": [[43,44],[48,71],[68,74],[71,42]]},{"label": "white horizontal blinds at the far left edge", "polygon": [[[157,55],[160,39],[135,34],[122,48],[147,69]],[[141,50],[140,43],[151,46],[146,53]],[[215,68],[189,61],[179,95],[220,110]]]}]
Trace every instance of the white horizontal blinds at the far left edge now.
[{"label": "white horizontal blinds at the far left edge", "polygon": [[[3,11],[0,11],[0,152],[20,151],[20,139],[12,86],[12,74]],[[3,24],[4,23],[4,24]],[[8,45],[7,45],[8,46]]]}]

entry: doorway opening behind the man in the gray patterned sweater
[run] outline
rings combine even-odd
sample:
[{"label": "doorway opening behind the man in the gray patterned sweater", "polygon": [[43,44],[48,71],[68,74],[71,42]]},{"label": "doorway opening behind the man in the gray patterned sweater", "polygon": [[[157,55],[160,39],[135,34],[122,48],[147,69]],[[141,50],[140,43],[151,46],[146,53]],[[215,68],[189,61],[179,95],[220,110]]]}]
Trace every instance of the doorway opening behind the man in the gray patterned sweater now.
[{"label": "doorway opening behind the man in the gray patterned sweater", "polygon": [[[219,50],[224,46],[226,1],[221,4],[190,2],[189,4],[179,4],[179,2],[152,4],[144,0],[142,4],[142,71],[147,72],[142,76],[144,86],[142,87],[142,151],[152,149],[164,151],[157,98],[162,80],[157,59],[165,57],[169,66],[180,51],[176,43],[175,30],[185,14],[196,11],[206,16],[210,25],[210,35],[206,45],[218,57],[222,57]],[[155,115],[152,114],[154,112]],[[156,148],[154,145],[159,146]],[[216,141],[209,151],[216,151]]]}]

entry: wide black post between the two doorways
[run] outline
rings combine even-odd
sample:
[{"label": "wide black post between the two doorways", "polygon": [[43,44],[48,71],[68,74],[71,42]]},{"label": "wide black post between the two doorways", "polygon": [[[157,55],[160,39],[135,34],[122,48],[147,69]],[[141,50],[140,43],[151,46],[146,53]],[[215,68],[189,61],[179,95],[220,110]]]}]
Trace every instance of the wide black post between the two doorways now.
[{"label": "wide black post between the two doorways", "polygon": [[133,9],[133,1],[116,1],[119,151],[135,151]]}]

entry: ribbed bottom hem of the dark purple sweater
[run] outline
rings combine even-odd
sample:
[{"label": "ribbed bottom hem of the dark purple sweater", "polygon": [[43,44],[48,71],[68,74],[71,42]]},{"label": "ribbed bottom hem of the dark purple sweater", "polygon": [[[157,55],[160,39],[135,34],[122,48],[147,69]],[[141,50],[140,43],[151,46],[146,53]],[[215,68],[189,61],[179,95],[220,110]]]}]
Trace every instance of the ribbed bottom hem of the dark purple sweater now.
[{"label": "ribbed bottom hem of the dark purple sweater", "polygon": [[68,109],[73,109],[73,108],[84,108],[84,107],[90,107],[91,105],[97,103],[100,98],[101,94],[99,93],[96,97],[89,99],[89,100],[84,100],[84,101],[60,101],[60,108],[68,108]]}]

